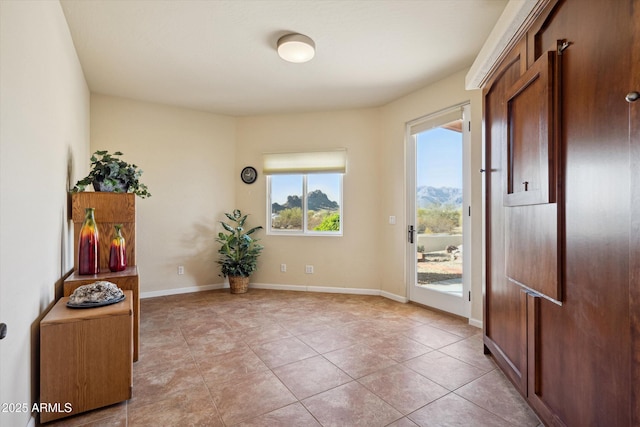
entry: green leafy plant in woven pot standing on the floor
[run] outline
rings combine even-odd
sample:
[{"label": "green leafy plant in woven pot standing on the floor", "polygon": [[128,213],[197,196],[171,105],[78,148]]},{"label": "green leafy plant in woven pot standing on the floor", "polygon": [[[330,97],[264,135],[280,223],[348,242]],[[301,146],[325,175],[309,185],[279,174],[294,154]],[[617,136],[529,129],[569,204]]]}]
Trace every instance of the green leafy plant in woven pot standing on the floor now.
[{"label": "green leafy plant in woven pot standing on the floor", "polygon": [[224,232],[218,233],[216,241],[220,243],[218,264],[223,277],[229,277],[229,287],[232,294],[243,294],[249,287],[249,276],[256,270],[258,256],[262,252],[262,245],[251,234],[262,229],[261,226],[245,230],[244,225],[248,215],[242,215],[239,209],[233,213],[225,213],[230,224],[220,221]]}]

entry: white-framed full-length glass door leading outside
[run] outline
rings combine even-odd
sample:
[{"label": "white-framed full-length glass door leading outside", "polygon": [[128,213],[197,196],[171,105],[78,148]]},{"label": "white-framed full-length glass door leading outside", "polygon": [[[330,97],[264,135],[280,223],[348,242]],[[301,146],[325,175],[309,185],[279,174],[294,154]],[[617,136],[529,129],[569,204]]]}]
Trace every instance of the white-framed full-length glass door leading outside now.
[{"label": "white-framed full-length glass door leading outside", "polygon": [[469,117],[464,104],[407,126],[409,299],[467,318]]}]

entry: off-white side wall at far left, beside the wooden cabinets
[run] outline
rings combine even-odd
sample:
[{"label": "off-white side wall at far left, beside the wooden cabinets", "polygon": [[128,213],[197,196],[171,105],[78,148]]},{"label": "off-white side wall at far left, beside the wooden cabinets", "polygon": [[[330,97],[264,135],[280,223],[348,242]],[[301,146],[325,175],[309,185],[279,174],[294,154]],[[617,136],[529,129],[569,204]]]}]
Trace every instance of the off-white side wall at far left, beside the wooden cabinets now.
[{"label": "off-white side wall at far left, beside the wooden cabinets", "polygon": [[88,169],[89,90],[58,2],[1,1],[0,58],[0,403],[31,405],[38,322],[73,268],[67,189]]}]

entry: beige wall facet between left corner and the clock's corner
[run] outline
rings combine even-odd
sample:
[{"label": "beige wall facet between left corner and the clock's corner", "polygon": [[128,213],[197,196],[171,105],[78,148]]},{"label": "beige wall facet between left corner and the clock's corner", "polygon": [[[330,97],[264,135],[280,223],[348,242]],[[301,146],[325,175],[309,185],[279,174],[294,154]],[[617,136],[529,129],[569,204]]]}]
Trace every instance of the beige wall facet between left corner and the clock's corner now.
[{"label": "beige wall facet between left corner and the clock's corner", "polygon": [[214,239],[217,221],[235,204],[235,145],[232,117],[91,95],[91,151],[123,152],[152,194],[136,198],[143,294],[222,281]]}]

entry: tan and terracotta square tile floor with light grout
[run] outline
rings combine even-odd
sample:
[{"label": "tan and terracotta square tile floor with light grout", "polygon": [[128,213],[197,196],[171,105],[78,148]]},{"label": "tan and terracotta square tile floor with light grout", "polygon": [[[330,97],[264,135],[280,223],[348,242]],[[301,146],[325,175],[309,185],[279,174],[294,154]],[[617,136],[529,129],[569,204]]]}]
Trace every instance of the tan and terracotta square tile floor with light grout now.
[{"label": "tan and terracotta square tile floor with light grout", "polygon": [[539,426],[482,349],[480,329],[383,297],[145,299],[133,398],[46,425]]}]

